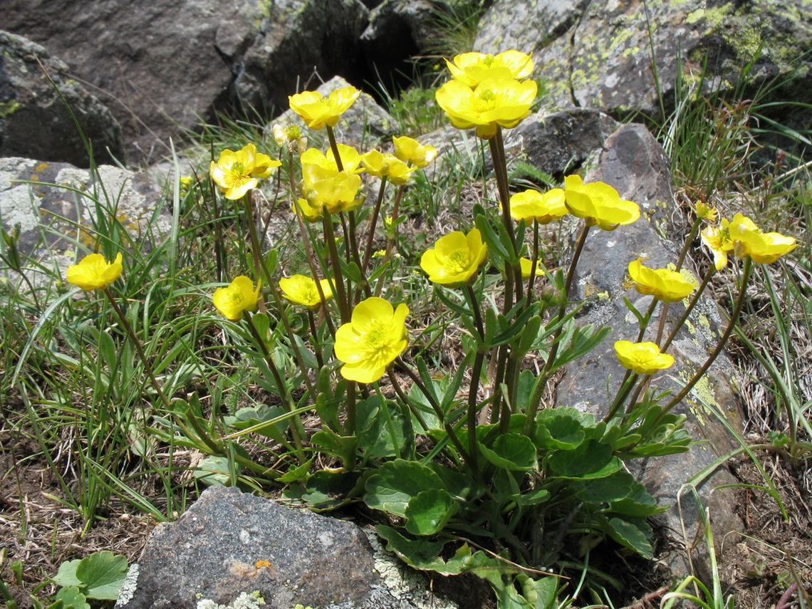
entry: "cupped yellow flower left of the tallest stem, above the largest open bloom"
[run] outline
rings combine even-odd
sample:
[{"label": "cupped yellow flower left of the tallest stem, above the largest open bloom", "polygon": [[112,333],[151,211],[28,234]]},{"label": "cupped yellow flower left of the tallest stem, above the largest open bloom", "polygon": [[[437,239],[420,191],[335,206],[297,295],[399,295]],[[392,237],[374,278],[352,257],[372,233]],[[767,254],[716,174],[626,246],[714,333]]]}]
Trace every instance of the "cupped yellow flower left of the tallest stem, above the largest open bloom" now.
[{"label": "cupped yellow flower left of the tallest stem, above the largest open bloom", "polygon": [[487,255],[488,249],[482,243],[479,229],[474,228],[468,235],[454,231],[440,237],[434,249],[423,253],[420,267],[429,275],[429,281],[446,287],[460,287],[474,282]]}]

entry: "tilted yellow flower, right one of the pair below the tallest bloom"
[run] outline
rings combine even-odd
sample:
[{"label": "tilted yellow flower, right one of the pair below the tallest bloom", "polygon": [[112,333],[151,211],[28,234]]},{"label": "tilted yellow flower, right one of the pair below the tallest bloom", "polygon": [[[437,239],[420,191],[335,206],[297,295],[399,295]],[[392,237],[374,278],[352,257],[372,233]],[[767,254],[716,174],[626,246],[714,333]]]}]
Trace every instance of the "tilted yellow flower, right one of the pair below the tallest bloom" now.
[{"label": "tilted yellow flower, right one of the pair below the tallest bloom", "polygon": [[640,218],[640,207],[633,201],[621,201],[609,184],[584,184],[579,175],[564,178],[564,196],[569,213],[584,218],[587,226],[614,231],[621,224],[631,224]]}]

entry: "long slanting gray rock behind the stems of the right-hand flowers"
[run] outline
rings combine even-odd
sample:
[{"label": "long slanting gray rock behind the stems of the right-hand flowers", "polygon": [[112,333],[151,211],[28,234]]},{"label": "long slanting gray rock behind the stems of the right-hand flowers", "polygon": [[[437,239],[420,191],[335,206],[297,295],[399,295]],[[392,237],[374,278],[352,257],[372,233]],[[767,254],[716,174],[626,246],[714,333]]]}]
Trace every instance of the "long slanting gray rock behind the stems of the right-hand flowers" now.
[{"label": "long slanting gray rock behind the stems of the right-hand flowers", "polygon": [[[650,296],[641,296],[628,284],[628,263],[643,255],[647,258],[646,266],[663,268],[668,263],[676,262],[679,252],[671,241],[662,236],[666,234],[664,224],[675,211],[668,160],[646,127],[624,125],[607,139],[598,165],[585,176],[585,182],[598,180],[615,187],[620,197],[637,202],[642,215],[637,222],[615,231],[596,228],[590,231],[575,276],[575,297],[589,300],[580,314],[579,322],[599,323],[611,326],[613,330],[590,356],[567,369],[556,387],[556,405],[575,406],[603,417],[608,408],[607,399],[615,395],[624,375],[624,369],[615,358],[615,340],[634,342],[637,339],[637,319],[628,311],[623,299],[628,298],[641,312],[646,311],[651,301]],[[686,259],[684,268],[698,278],[690,258]],[[684,312],[681,302],[671,304],[666,332]],[[672,343],[669,349],[676,358],[676,365],[666,374],[654,375],[652,387],[679,391],[681,385],[673,382],[672,378],[676,376],[682,383],[687,382],[718,342],[719,328],[723,324],[711,300],[703,300],[691,313],[689,321],[689,326],[681,330],[680,339]],[[656,332],[658,324],[659,317],[655,313],[644,339],[652,339],[651,334]],[[607,393],[607,378],[610,375]],[[700,382],[689,397],[674,409],[673,412],[685,413],[688,417],[687,429],[695,443],[689,452],[631,464],[635,469],[633,473],[659,503],[671,505],[671,509],[663,515],[663,521],[672,529],[677,540],[680,540],[680,514],[677,510],[680,487],[734,447],[731,434],[714,417],[710,408],[723,413],[733,429],[741,430],[741,412],[732,377],[730,361],[720,356],[706,375],[707,380]],[[723,532],[742,529],[735,514],[731,490],[715,490],[717,486],[733,482],[735,480],[727,469],[717,467],[698,486],[702,499],[711,506],[714,524],[719,525],[718,530]],[[698,525],[697,506],[690,495],[687,500],[683,499],[682,505],[687,529],[689,534],[693,534]],[[680,556],[673,557],[671,566],[677,575],[688,572]]]}]

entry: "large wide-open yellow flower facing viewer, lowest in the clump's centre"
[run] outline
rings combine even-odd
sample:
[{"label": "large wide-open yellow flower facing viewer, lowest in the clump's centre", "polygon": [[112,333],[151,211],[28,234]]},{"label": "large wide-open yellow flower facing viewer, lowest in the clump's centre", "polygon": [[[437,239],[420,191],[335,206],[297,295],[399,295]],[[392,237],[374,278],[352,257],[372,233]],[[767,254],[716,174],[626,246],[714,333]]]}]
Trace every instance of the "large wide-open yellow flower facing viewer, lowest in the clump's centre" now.
[{"label": "large wide-open yellow flower facing viewer, lowest in the clump's centre", "polygon": [[397,309],[382,298],[362,300],[350,322],[335,332],[335,356],[343,361],[341,376],[350,381],[375,382],[406,348],[408,307]]}]

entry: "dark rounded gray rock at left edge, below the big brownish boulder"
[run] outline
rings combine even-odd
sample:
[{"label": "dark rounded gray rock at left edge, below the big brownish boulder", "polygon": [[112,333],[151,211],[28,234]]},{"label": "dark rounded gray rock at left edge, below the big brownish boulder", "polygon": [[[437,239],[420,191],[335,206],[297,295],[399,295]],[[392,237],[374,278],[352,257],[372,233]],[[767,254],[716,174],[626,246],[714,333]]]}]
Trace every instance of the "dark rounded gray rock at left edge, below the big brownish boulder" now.
[{"label": "dark rounded gray rock at left edge, below the big brownish boulder", "polygon": [[95,162],[123,161],[119,123],[67,70],[40,45],[0,32],[0,156],[87,167],[81,130]]}]

